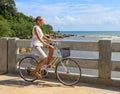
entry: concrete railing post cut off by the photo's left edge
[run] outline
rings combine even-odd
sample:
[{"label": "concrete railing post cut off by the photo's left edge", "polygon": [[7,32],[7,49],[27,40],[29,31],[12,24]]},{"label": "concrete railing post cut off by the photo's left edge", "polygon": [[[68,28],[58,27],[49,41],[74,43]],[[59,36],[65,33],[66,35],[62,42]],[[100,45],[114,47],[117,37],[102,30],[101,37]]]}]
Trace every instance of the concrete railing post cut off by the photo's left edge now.
[{"label": "concrete railing post cut off by the photo's left edge", "polygon": [[0,74],[7,72],[7,38],[0,39]]}]

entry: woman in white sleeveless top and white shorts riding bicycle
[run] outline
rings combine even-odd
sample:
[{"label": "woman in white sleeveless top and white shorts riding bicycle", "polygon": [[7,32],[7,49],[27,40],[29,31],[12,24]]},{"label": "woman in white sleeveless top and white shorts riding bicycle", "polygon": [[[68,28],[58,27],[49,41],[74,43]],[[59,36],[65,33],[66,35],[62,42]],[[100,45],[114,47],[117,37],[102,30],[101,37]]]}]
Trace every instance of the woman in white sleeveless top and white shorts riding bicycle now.
[{"label": "woman in white sleeveless top and white shorts riding bicycle", "polygon": [[[50,61],[52,59],[53,52],[54,52],[54,47],[45,41],[45,40],[50,41],[51,39],[47,38],[42,32],[41,27],[44,25],[43,18],[41,16],[38,16],[35,19],[35,23],[36,23],[36,25],[33,27],[33,30],[32,30],[31,45],[32,45],[33,51],[37,52],[37,54],[40,56],[41,60],[39,61],[37,67],[35,68],[35,70],[33,71],[32,74],[35,75],[36,77],[41,78],[42,75],[39,74],[39,70],[41,69],[42,65],[45,64],[46,62],[48,64],[48,66],[50,65]],[[42,49],[43,47],[46,47],[49,49],[48,56],[43,51],[43,49]]]}]

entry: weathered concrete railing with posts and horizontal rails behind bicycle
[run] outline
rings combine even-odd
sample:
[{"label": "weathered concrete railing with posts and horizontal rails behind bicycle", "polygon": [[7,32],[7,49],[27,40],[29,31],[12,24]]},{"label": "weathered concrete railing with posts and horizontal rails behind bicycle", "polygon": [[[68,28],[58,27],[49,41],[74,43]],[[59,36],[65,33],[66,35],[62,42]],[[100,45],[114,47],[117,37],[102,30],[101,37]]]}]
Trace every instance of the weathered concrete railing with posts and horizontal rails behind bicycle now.
[{"label": "weathered concrete railing with posts and horizontal rails behind bicycle", "polygon": [[[120,61],[111,59],[112,52],[120,52],[120,42],[111,40],[88,41],[57,41],[58,47],[70,47],[71,50],[98,52],[98,59],[71,57],[81,68],[98,70],[98,77],[82,75],[81,81],[120,86],[118,80],[111,79],[111,72],[120,72]],[[22,56],[19,48],[30,48],[30,40],[17,38],[0,39],[0,73],[16,72],[17,60]]]}]

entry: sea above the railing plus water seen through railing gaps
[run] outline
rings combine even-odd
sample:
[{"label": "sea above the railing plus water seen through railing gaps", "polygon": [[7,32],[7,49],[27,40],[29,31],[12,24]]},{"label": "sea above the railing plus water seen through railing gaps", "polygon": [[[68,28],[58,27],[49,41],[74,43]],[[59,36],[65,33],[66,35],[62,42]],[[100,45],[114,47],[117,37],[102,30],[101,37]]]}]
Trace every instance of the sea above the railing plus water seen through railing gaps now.
[{"label": "sea above the railing plus water seen through railing gaps", "polygon": [[[77,40],[77,41],[99,41],[101,39],[110,39],[111,41],[120,42],[120,31],[60,31],[60,34],[72,34],[74,36],[61,38],[57,40]],[[71,56],[98,59],[98,52],[88,51],[71,51]],[[120,53],[112,53],[112,60],[120,61]],[[92,74],[98,76],[97,70],[82,69],[83,74]],[[112,78],[120,80],[120,72],[112,72]]]}]

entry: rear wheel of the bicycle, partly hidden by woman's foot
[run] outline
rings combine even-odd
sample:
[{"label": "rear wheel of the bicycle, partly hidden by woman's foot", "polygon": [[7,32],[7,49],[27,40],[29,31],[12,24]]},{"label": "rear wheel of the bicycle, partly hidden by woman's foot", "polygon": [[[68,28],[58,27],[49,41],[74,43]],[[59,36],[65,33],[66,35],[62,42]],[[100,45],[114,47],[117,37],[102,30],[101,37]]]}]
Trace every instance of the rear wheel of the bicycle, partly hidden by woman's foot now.
[{"label": "rear wheel of the bicycle, partly hidden by woman's foot", "polygon": [[19,74],[21,78],[28,82],[38,79],[32,74],[37,65],[38,61],[32,56],[22,58],[19,62]]}]

